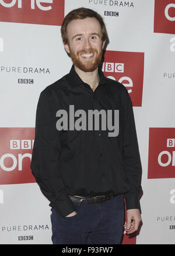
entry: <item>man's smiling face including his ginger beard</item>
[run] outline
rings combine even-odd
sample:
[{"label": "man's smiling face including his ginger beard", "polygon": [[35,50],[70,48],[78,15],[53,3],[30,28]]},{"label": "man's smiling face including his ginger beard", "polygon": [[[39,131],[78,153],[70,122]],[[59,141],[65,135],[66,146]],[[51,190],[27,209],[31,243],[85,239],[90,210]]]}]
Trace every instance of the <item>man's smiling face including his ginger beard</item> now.
[{"label": "man's smiling face including his ginger beard", "polygon": [[104,42],[101,26],[95,18],[76,19],[67,26],[68,44],[65,49],[76,67],[84,72],[96,70],[101,62]]}]

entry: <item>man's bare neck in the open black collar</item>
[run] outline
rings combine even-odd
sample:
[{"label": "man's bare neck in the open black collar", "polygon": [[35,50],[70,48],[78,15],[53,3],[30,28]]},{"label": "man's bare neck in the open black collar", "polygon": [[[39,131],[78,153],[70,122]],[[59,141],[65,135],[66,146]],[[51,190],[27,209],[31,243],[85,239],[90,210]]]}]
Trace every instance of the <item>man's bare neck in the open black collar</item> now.
[{"label": "man's bare neck in the open black collar", "polygon": [[96,70],[93,72],[84,72],[80,70],[78,67],[76,67],[75,65],[74,67],[75,67],[75,71],[77,72],[79,77],[82,79],[82,81],[85,82],[86,84],[89,84],[92,90],[95,91],[95,89],[99,85],[98,68],[96,68]]}]

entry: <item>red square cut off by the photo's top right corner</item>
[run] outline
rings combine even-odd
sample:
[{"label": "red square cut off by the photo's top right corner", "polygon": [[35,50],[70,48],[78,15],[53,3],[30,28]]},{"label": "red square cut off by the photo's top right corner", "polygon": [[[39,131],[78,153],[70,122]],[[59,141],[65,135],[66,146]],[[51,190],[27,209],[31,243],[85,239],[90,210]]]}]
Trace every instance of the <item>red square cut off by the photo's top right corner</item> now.
[{"label": "red square cut off by the photo's top right corner", "polygon": [[175,34],[175,2],[155,0],[155,33]]}]

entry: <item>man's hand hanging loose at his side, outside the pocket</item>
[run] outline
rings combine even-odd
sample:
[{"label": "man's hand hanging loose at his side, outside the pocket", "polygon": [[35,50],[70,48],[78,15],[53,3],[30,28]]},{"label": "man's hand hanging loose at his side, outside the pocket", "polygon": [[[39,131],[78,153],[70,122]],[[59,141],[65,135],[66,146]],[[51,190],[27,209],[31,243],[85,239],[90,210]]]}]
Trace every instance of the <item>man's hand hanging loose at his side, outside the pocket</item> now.
[{"label": "man's hand hanging loose at his side, outside the pocket", "polygon": [[138,230],[141,220],[141,213],[139,209],[127,210],[127,224],[124,225],[127,234],[134,233]]}]

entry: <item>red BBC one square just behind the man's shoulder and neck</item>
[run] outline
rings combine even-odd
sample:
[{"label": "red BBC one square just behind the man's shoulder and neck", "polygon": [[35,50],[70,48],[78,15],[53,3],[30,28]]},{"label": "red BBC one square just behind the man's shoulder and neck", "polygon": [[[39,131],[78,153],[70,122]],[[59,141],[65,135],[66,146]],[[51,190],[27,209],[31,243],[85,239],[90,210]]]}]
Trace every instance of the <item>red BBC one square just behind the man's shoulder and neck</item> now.
[{"label": "red BBC one square just behind the man's shoulder and neck", "polygon": [[102,71],[128,89],[133,106],[142,106],[144,53],[106,51]]}]

